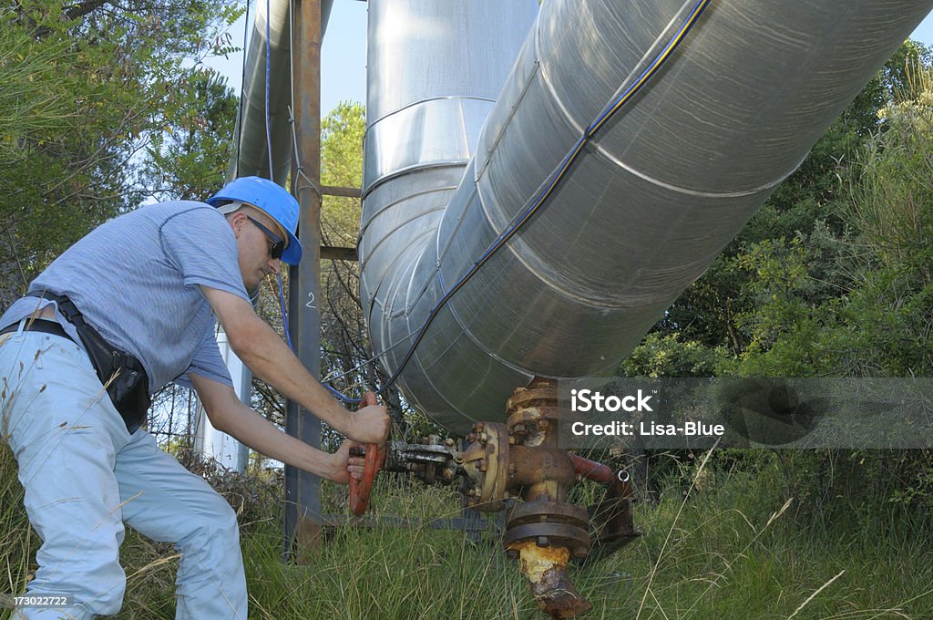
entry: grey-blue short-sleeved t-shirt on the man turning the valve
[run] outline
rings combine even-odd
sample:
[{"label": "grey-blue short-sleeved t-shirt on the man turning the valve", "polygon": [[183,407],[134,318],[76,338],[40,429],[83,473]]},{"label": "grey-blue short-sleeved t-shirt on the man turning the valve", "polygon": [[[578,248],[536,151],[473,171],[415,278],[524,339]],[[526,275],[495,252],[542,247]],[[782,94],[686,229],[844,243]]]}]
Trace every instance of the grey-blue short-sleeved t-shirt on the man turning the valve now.
[{"label": "grey-blue short-sleeved t-shirt on the man turning the valve", "polygon": [[[199,285],[249,301],[226,218],[208,204],[177,201],[105,222],[65,250],[29,291],[67,295],[107,342],[143,363],[150,392],[171,381],[189,388],[188,373],[230,386]],[[0,327],[48,303],[24,297],[0,317]],[[58,311],[56,318],[80,344],[75,327]]]}]

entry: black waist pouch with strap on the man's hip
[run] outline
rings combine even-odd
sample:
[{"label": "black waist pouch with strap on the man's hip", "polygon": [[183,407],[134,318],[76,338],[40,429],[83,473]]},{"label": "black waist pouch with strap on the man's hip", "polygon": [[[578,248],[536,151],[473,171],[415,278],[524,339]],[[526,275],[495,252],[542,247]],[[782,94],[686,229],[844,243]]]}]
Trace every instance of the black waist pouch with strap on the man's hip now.
[{"label": "black waist pouch with strap on the man's hip", "polygon": [[35,293],[35,297],[39,296],[57,303],[59,312],[75,326],[97,377],[126,423],[126,430],[132,433],[138,429],[146,421],[151,402],[149,379],[142,362],[104,340],[104,336],[84,320],[75,303],[66,296]]}]

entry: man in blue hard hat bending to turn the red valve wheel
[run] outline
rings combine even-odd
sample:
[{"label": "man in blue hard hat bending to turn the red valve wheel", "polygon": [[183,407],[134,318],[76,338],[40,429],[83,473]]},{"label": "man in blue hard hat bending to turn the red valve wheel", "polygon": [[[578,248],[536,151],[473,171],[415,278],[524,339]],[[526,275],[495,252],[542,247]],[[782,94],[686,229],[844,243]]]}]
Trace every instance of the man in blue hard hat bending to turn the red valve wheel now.
[{"label": "man in blue hard hat bending to turn the red valve wheel", "polygon": [[0,317],[0,431],[43,541],[27,595],[72,597],[70,607],[20,608],[17,617],[117,613],[125,521],[181,553],[176,618],[245,620],[230,506],[138,428],[148,394],[171,381],[197,391],[217,429],[272,458],[348,481],[349,442],[333,455],[315,450],[237,399],[215,317],[259,378],[351,440],[385,439],[384,407],[346,411],[250,303],[247,291],[277,273],[280,260],[301,258],[295,199],[271,181],[245,177],[207,202],[151,204],[104,223]]}]

